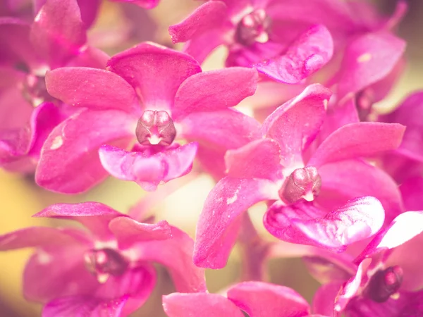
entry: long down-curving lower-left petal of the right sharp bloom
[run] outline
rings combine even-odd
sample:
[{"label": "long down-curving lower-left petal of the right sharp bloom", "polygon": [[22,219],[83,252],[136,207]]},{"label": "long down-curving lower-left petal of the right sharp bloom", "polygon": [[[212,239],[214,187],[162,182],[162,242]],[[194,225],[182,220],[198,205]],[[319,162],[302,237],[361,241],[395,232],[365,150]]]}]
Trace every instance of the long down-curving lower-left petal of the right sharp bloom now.
[{"label": "long down-curving lower-left petal of the right sharp bloom", "polygon": [[259,201],[278,199],[269,180],[223,178],[209,193],[197,223],[194,263],[223,268],[235,244],[240,216]]}]

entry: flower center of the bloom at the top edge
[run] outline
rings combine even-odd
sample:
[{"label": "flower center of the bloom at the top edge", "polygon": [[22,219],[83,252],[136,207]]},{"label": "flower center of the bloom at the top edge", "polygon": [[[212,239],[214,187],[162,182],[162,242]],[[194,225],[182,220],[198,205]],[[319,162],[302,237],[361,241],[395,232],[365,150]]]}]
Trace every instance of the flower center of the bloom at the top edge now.
[{"label": "flower center of the bloom at the top edge", "polygon": [[250,46],[255,42],[266,43],[269,40],[271,19],[264,9],[258,9],[245,15],[238,23],[235,39],[240,44]]}]

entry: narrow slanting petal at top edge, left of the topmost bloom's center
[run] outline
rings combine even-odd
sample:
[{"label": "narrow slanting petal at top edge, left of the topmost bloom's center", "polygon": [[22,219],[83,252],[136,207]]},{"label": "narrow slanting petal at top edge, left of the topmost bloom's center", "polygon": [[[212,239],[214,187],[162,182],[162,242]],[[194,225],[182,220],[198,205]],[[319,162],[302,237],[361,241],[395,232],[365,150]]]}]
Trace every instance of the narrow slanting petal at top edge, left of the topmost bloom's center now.
[{"label": "narrow slanting petal at top edge, left of the topmost bloom's center", "polygon": [[209,1],[202,4],[188,18],[169,27],[172,42],[187,42],[193,37],[220,27],[226,20],[227,14],[226,4],[222,1]]}]

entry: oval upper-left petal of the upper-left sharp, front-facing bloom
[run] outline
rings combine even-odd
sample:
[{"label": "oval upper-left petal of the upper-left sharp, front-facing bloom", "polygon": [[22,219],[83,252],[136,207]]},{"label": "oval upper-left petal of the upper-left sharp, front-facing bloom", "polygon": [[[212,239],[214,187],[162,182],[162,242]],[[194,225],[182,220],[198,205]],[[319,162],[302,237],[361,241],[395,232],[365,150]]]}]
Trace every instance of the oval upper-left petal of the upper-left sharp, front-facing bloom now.
[{"label": "oval upper-left petal of the upper-left sharp, front-facing bloom", "polygon": [[46,74],[51,96],[65,104],[93,110],[140,112],[133,87],[115,73],[87,67],[66,67]]}]

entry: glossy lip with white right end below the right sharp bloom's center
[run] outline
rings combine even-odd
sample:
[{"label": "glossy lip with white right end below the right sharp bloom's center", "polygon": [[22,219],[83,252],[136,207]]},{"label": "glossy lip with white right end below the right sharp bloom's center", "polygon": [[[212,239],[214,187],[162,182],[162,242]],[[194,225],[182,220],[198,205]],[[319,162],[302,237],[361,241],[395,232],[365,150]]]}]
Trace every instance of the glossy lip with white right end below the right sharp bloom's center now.
[{"label": "glossy lip with white right end below the right sharp bloom's center", "polygon": [[283,241],[340,252],[374,235],[384,224],[384,216],[384,208],[374,197],[354,199],[326,214],[306,201],[290,206],[276,202],[264,215],[264,226]]}]

